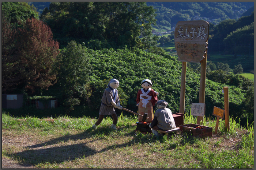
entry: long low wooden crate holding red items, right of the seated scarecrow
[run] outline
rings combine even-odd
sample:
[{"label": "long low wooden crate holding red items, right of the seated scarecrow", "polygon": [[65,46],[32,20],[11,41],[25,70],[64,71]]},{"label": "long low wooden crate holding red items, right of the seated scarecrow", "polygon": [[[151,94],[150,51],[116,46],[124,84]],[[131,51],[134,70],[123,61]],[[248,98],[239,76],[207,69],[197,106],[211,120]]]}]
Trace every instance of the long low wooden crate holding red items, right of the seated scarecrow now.
[{"label": "long low wooden crate holding red items, right of the seated scarecrow", "polygon": [[[202,129],[197,129],[197,126],[201,127]],[[212,136],[212,127],[202,126],[200,124],[190,123],[180,125],[180,130],[182,130],[183,132],[191,132],[193,136],[198,136],[200,138]]]}]

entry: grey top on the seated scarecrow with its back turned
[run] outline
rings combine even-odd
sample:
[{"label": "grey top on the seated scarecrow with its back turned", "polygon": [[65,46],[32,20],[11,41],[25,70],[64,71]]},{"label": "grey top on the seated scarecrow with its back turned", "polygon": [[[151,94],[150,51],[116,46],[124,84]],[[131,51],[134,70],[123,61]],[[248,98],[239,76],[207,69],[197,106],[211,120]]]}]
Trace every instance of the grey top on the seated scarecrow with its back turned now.
[{"label": "grey top on the seated scarecrow with its back turned", "polygon": [[171,130],[176,128],[172,111],[169,108],[158,109],[155,111],[154,116],[157,117],[157,127],[163,130]]}]

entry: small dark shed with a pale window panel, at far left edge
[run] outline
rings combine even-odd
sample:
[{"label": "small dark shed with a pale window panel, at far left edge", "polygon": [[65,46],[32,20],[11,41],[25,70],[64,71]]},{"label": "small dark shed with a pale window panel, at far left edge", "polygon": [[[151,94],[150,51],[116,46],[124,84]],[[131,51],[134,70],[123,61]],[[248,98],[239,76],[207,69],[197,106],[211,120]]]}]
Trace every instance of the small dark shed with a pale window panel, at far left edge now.
[{"label": "small dark shed with a pale window panel, at far left edge", "polygon": [[23,107],[24,94],[2,94],[2,108]]}]

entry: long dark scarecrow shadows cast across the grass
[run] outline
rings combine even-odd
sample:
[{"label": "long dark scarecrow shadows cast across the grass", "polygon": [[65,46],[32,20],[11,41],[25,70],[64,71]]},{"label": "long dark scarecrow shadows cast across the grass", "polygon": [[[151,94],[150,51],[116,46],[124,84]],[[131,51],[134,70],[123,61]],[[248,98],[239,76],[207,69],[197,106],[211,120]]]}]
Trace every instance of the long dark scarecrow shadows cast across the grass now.
[{"label": "long dark scarecrow shadows cast across the grass", "polygon": [[[122,133],[125,129],[126,127],[122,127],[117,130],[117,133],[118,132]],[[95,150],[93,147],[89,147],[88,145],[89,143],[106,138],[108,135],[111,135],[112,131],[113,130],[107,127],[100,127],[97,130],[93,130],[90,128],[79,134],[65,135],[63,137],[52,139],[48,142],[27,146],[26,147],[27,150],[19,153],[15,153],[15,154],[9,154],[8,156],[13,157],[16,160],[19,160],[19,162],[22,164],[25,163],[25,164],[31,164],[31,165],[38,165],[38,164],[45,164],[45,163],[62,163],[65,161],[72,161],[75,159],[83,159],[91,155],[95,155],[97,153],[102,153],[106,150],[132,146],[135,143],[140,143],[141,145],[143,145],[145,143],[155,143],[155,141],[165,142],[165,140],[163,139],[163,136],[155,137],[155,136],[152,136],[152,134],[142,134],[138,132],[135,133],[134,131],[132,131],[132,132],[122,134],[123,136],[133,137],[132,140],[130,140],[129,142],[125,142],[120,145],[113,144],[101,150]],[[89,142],[74,144],[76,143],[76,141],[79,142],[79,140],[91,138],[92,136],[95,136],[95,135],[97,136],[96,140],[90,140]],[[190,139],[184,139],[184,140],[190,140]],[[67,143],[65,143],[69,141],[72,142],[71,145],[67,145]],[[183,141],[182,143],[186,143],[186,142]],[[193,141],[190,141],[190,142],[193,142]],[[171,148],[174,149],[175,147],[176,146],[172,146]]]}]

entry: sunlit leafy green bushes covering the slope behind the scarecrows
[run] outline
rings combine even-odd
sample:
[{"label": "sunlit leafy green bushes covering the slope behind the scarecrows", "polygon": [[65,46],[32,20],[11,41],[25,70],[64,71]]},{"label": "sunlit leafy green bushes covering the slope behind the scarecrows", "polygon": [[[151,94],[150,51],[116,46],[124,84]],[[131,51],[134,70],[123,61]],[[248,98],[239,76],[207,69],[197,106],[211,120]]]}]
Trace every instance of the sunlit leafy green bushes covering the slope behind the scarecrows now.
[{"label": "sunlit leafy green bushes covering the slope behind the scarecrows", "polygon": [[[133,51],[127,48],[123,50],[114,50],[111,48],[109,50],[103,49],[101,51],[94,51],[80,45],[75,46],[74,43],[73,45],[71,46],[72,48],[67,47],[67,49],[70,50],[69,53],[61,52],[62,55],[67,54],[65,55],[67,60],[65,60],[65,64],[63,63],[64,60],[61,60],[63,66],[59,68],[59,75],[63,76],[59,77],[68,79],[68,81],[60,80],[59,83],[56,83],[49,89],[49,91],[52,91],[52,94],[48,94],[48,96],[58,97],[58,102],[62,106],[65,102],[64,100],[70,104],[73,102],[73,100],[71,101],[70,99],[74,99],[74,101],[77,102],[80,100],[77,106],[74,106],[75,103],[73,103],[74,110],[69,110],[69,116],[79,117],[90,115],[91,117],[97,117],[99,107],[101,106],[102,94],[105,88],[107,88],[109,80],[112,78],[116,78],[120,82],[120,86],[117,90],[120,96],[121,106],[136,112],[138,110],[136,106],[136,96],[138,90],[142,88],[140,82],[143,79],[150,79],[153,83],[152,88],[159,92],[158,100],[165,99],[169,103],[167,107],[170,108],[173,113],[179,112],[181,62],[178,62],[176,57],[166,54],[164,56],[157,55],[138,48]],[[80,49],[82,53],[78,53],[78,55],[74,52],[76,50],[72,49]],[[73,59],[68,60],[68,58],[74,56],[76,56],[74,61]],[[87,62],[85,63],[83,63],[84,58],[87,58]],[[84,70],[86,67],[91,67],[90,71],[86,72]],[[64,69],[66,71],[64,71]],[[66,76],[64,72],[70,72],[70,74]],[[87,74],[85,75],[85,73]],[[207,117],[211,115],[214,106],[224,107],[222,89],[224,86],[230,85],[230,116],[234,115],[242,119],[246,117],[247,114],[248,118],[253,120],[253,111],[246,110],[246,107],[251,106],[251,103],[249,103],[249,100],[245,101],[244,98],[245,89],[252,87],[253,82],[250,82],[248,79],[243,79],[240,75],[227,75],[226,72],[222,70],[208,72],[207,76],[205,93]],[[222,79],[219,80],[219,78]],[[219,81],[219,83],[210,79]],[[72,86],[72,83],[74,83],[75,86]],[[84,88],[83,84],[86,84],[86,92],[90,93],[80,90],[80,88]],[[237,88],[237,84],[240,84],[241,88]],[[187,70],[185,112],[189,113],[191,103],[199,102],[199,87],[200,74]],[[68,107],[70,106],[67,106],[67,108]],[[156,109],[155,106],[154,109]],[[122,110],[117,110],[117,114],[120,114],[121,111]],[[244,113],[243,115],[241,115],[242,112]],[[125,112],[124,114],[128,113]]]}]

